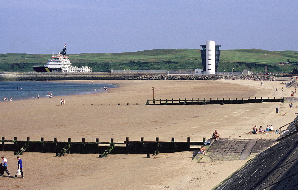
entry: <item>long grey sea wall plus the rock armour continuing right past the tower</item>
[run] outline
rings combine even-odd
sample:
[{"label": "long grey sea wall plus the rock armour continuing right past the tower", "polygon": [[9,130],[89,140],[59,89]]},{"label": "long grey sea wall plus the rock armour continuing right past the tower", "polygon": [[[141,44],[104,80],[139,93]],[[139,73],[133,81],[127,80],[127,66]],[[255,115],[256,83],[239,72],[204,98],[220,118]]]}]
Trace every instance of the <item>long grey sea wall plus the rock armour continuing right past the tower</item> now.
[{"label": "long grey sea wall plus the rock armour continuing right past the tower", "polygon": [[158,73],[47,73],[47,72],[0,72],[0,81],[60,81],[60,80],[216,80],[242,79],[268,81],[266,75],[162,75]]}]

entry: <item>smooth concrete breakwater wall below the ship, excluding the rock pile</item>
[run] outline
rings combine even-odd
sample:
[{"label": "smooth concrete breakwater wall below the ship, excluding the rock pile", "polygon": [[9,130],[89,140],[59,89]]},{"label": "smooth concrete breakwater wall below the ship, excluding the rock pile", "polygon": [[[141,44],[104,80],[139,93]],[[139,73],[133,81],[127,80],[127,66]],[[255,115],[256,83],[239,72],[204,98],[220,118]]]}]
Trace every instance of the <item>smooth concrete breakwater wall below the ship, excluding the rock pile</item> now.
[{"label": "smooth concrete breakwater wall below the ship, excluding the rock pile", "polygon": [[[151,74],[151,73],[150,73]],[[156,74],[156,73],[152,73]],[[60,80],[124,80],[138,77],[144,73],[111,73],[111,72],[85,72],[85,73],[48,73],[48,72],[0,72],[0,81],[60,81]]]}]

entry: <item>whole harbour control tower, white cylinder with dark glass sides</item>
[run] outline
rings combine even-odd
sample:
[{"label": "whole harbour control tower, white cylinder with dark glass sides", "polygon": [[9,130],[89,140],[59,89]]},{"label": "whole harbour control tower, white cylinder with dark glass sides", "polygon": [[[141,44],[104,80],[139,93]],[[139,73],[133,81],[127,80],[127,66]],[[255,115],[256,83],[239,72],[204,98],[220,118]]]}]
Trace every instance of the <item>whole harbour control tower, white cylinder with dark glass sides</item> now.
[{"label": "whole harbour control tower, white cylinder with dark glass sides", "polygon": [[219,47],[221,45],[215,45],[215,41],[209,40],[206,41],[206,45],[200,46],[202,47],[201,58],[205,74],[215,74],[218,71],[219,56],[221,54]]}]

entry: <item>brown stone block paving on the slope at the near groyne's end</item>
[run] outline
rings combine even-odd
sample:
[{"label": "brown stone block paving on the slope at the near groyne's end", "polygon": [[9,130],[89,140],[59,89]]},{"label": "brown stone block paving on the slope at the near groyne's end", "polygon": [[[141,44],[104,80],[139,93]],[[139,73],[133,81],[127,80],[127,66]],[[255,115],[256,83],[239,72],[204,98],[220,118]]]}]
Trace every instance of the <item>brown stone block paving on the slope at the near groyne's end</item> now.
[{"label": "brown stone block paving on the slope at the near groyne's end", "polygon": [[[221,139],[214,141],[206,152],[207,156],[204,156],[201,161],[238,160],[249,140],[252,139]],[[259,139],[250,152],[254,155],[272,146],[275,142],[276,139]]]}]

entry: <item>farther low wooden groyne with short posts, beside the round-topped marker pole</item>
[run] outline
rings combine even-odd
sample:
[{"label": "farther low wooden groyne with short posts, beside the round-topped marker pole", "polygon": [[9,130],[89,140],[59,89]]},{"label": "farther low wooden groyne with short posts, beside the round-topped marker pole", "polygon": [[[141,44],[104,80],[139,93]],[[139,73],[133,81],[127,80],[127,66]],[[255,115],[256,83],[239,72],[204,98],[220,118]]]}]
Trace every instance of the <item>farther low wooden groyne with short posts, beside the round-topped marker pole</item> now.
[{"label": "farther low wooden groyne with short posts, beside the round-topped marker pole", "polygon": [[[285,97],[284,97],[285,98]],[[248,98],[248,99],[234,99],[232,100],[231,98],[229,99],[206,99],[205,98],[203,100],[200,100],[199,98],[198,99],[191,99],[191,100],[187,100],[186,98],[185,99],[178,99],[178,100],[174,100],[173,98],[172,99],[165,99],[165,100],[162,100],[162,99],[159,99],[159,100],[149,100],[147,99],[147,102],[146,102],[146,106],[147,105],[205,105],[205,104],[221,104],[221,105],[224,105],[224,104],[250,104],[250,103],[263,103],[263,102],[284,102],[284,98],[280,97],[280,98]]]}]

